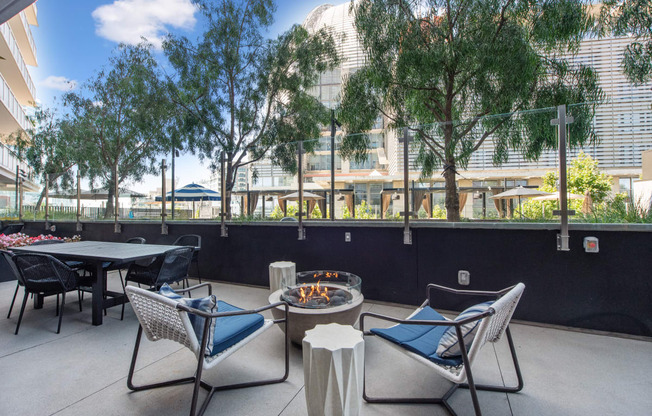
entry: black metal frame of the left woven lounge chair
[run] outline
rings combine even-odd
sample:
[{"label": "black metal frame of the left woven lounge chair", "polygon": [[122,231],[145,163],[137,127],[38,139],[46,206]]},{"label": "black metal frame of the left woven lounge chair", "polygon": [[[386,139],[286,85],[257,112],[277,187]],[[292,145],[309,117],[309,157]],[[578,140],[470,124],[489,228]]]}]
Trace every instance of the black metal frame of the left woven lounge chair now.
[{"label": "black metal frame of the left woven lounge chair", "polygon": [[[201,287],[208,287],[208,294],[212,294],[212,287],[209,283],[201,283],[198,285],[195,285],[193,287],[189,287],[187,289],[181,289],[181,290],[176,290],[177,293],[185,293],[188,292],[190,293],[191,290],[196,290]],[[204,311],[200,311],[198,309],[193,309],[185,305],[177,304],[177,309],[192,313],[198,316],[201,316],[203,318],[206,318],[204,320],[204,328],[203,328],[203,336],[202,336],[202,342],[199,347],[199,351],[206,351],[206,345],[208,343],[208,335],[209,335],[209,329],[210,329],[210,323],[211,319],[217,319],[220,317],[226,317],[226,316],[236,316],[236,315],[248,315],[248,314],[257,314],[261,313],[263,311],[276,308],[279,306],[284,307],[285,311],[285,317],[283,319],[276,319],[274,320],[275,324],[281,324],[285,323],[286,329],[288,325],[288,312],[289,312],[289,307],[288,304],[285,302],[276,302],[267,306],[263,306],[257,309],[250,309],[250,310],[242,310],[242,311],[236,311],[236,312],[215,312],[215,313],[206,313]],[[131,365],[129,366],[129,375],[127,377],[127,387],[132,390],[132,391],[143,391],[143,390],[149,390],[149,389],[154,389],[154,388],[159,388],[159,387],[169,387],[169,386],[176,386],[180,384],[189,384],[193,383],[193,394],[192,394],[192,401],[190,405],[190,416],[201,416],[204,414],[206,411],[206,408],[208,407],[213,394],[215,394],[218,391],[224,391],[224,390],[234,390],[234,389],[239,389],[239,388],[247,388],[247,387],[256,387],[256,386],[263,386],[267,384],[276,384],[276,383],[282,383],[285,380],[287,380],[288,375],[290,373],[290,336],[289,336],[289,331],[285,331],[285,372],[282,377],[280,378],[275,378],[275,379],[268,379],[268,380],[259,380],[259,381],[250,381],[250,382],[245,382],[245,383],[237,383],[237,384],[229,384],[229,385],[222,385],[222,386],[213,386],[211,384],[208,384],[202,380],[202,371],[204,369],[204,356],[201,356],[197,360],[197,369],[195,372],[195,375],[192,377],[184,377],[184,378],[178,378],[178,379],[173,379],[173,380],[168,380],[168,381],[163,381],[159,383],[153,383],[153,384],[144,384],[137,386],[133,383],[133,378],[134,378],[134,372],[136,369],[136,360],[138,358],[138,350],[140,348],[140,340],[143,335],[143,327],[142,325],[138,325],[138,333],[136,335],[136,344],[134,345],[134,352],[131,357]],[[201,407],[199,408],[199,411],[197,411],[197,401],[199,398],[199,389],[202,388],[208,392],[208,395],[204,399],[203,403],[201,404]]]}]

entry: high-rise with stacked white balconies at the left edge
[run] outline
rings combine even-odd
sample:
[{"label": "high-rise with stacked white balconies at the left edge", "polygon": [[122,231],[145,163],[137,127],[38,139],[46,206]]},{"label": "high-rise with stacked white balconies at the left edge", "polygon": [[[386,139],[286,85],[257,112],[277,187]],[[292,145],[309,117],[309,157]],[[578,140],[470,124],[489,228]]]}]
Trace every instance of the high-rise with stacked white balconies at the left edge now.
[{"label": "high-rise with stacked white balconies at the left edge", "polygon": [[[31,4],[0,25],[0,137],[27,134],[25,107],[34,105],[36,89],[29,66],[36,66],[36,46],[30,26],[38,25],[36,5]],[[16,177],[24,177],[25,190],[36,190],[29,166],[0,143],[0,209],[15,204]]]}]

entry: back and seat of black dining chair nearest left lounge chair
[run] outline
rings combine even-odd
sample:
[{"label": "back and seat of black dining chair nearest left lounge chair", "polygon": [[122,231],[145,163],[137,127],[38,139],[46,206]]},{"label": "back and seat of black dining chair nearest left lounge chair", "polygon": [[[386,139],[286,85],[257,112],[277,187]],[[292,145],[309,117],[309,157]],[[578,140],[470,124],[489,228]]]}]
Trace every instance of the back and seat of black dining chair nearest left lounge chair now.
[{"label": "back and seat of black dining chair nearest left lounge chair", "polygon": [[173,248],[156,257],[147,266],[134,263],[129,266],[125,284],[134,282],[159,290],[164,283],[172,284],[184,281],[188,278],[193,251],[194,247]]}]

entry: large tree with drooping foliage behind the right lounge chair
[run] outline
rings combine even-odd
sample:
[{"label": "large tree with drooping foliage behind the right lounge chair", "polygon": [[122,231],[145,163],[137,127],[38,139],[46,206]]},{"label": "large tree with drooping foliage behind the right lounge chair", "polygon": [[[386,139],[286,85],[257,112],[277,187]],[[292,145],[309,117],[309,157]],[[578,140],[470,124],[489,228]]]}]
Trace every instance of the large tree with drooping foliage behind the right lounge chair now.
[{"label": "large tree with drooping foliage behind the right lounge chair", "polygon": [[[361,0],[355,26],[367,63],[348,77],[339,120],[349,133],[389,128],[415,136],[423,176],[443,168],[449,221],[458,221],[456,175],[473,152],[494,142],[494,163],[510,148],[535,160],[557,146],[552,112],[568,103],[571,145],[595,140],[591,120],[601,99],[596,73],[563,54],[589,27],[586,1]],[[572,50],[572,49],[571,49]],[[501,116],[497,116],[497,115]],[[365,135],[349,134],[343,157],[365,157]]]}]

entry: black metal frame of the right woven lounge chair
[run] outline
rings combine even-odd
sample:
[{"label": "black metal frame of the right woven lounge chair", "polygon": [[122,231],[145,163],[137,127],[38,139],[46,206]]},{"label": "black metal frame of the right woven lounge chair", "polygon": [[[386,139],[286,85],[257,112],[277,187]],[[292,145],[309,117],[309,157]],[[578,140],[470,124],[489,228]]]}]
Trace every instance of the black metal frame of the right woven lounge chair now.
[{"label": "black metal frame of the right woven lounge chair", "polygon": [[[452,289],[448,288],[445,286],[440,286],[436,284],[429,284],[427,286],[427,299],[421,304],[420,308],[423,308],[425,306],[431,306],[431,290],[432,289],[437,289],[441,290],[444,292],[449,292],[453,293],[455,295],[469,295],[469,296],[488,296],[488,297],[495,297],[495,298],[500,298],[507,292],[509,292],[512,287],[500,290],[500,291],[476,291],[476,290],[458,290],[458,289]],[[461,350],[461,355],[462,355],[462,363],[464,366],[464,369],[466,370],[466,375],[467,375],[467,382],[466,383],[460,383],[460,384],[453,384],[453,386],[442,396],[442,397],[435,397],[435,398],[408,398],[408,397],[392,397],[392,398],[386,398],[386,397],[371,397],[367,395],[367,382],[366,382],[366,370],[364,371],[363,375],[363,387],[362,387],[362,397],[365,399],[365,401],[369,403],[394,403],[394,404],[438,404],[441,406],[444,406],[448,412],[455,416],[457,413],[453,410],[453,408],[450,406],[448,403],[448,399],[457,391],[458,388],[466,388],[469,389],[471,392],[471,399],[473,401],[473,408],[475,410],[475,414],[477,416],[480,416],[482,414],[482,411],[480,410],[480,403],[478,401],[478,395],[477,395],[477,390],[483,390],[483,391],[493,391],[493,392],[501,392],[501,393],[517,393],[523,389],[523,376],[521,374],[521,368],[518,364],[518,358],[516,357],[516,348],[514,347],[514,341],[512,339],[512,334],[509,330],[509,325],[507,325],[505,329],[505,333],[507,335],[507,342],[509,344],[509,350],[512,356],[512,362],[514,365],[514,371],[516,373],[516,378],[518,380],[518,383],[516,386],[513,387],[505,387],[505,386],[500,386],[500,385],[485,385],[485,384],[475,384],[473,380],[473,373],[471,370],[471,364],[469,361],[468,357],[468,346],[464,342],[464,337],[462,335],[462,326],[466,325],[470,322],[474,321],[479,321],[483,318],[486,318],[488,316],[491,316],[495,313],[495,310],[493,308],[489,308],[486,312],[473,315],[467,319],[464,320],[459,320],[459,321],[435,321],[435,320],[406,320],[406,319],[397,319],[393,318],[391,316],[387,315],[381,315],[378,313],[373,313],[373,312],[364,312],[360,314],[360,330],[362,331],[363,335],[366,336],[375,336],[376,334],[372,333],[371,331],[365,331],[365,318],[377,318],[377,319],[382,319],[385,321],[393,322],[396,324],[405,324],[405,325],[429,325],[429,326],[449,326],[449,327],[454,327],[455,332],[457,334],[457,339],[459,340],[460,343],[460,350]],[[366,367],[366,365],[365,365]]]}]

